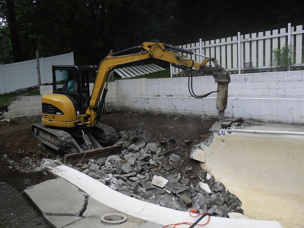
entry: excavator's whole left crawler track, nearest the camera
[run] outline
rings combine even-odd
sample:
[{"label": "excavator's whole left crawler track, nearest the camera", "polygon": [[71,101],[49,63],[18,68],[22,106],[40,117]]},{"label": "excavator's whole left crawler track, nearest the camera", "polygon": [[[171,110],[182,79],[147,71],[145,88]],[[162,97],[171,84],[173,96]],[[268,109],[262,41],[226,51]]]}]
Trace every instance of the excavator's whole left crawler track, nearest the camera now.
[{"label": "excavator's whole left crawler track, nearest the camera", "polygon": [[68,150],[72,147],[72,136],[69,133],[49,128],[42,123],[32,125],[32,134],[43,144],[55,150]]}]

